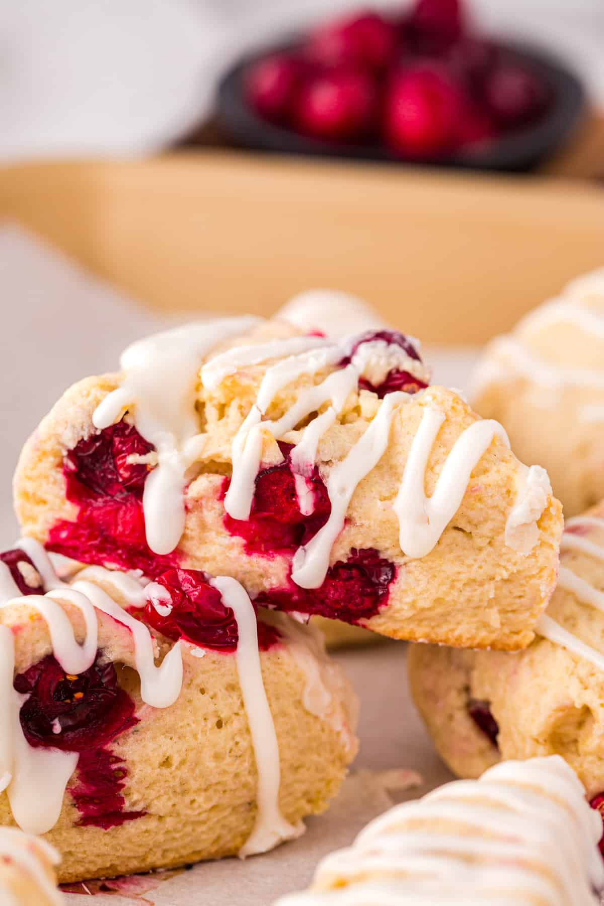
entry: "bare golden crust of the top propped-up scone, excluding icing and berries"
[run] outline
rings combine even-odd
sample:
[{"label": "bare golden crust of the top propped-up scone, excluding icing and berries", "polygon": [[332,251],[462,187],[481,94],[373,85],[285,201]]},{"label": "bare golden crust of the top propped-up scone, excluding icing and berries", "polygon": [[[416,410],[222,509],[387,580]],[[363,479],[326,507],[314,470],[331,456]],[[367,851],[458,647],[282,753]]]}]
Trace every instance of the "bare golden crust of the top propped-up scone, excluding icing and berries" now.
[{"label": "bare golden crust of the top propped-up scone, excluding icing and berries", "polygon": [[[285,329],[278,327],[282,334]],[[264,327],[255,340],[266,339],[266,333],[274,330],[271,325]],[[198,389],[206,445],[197,464],[199,474],[187,487],[187,522],[177,548],[182,565],[232,575],[252,596],[266,588],[283,588],[291,558],[246,555],[243,540],[225,529],[221,492],[231,470],[235,431],[254,403],[265,368],[246,367],[212,393],[201,386]],[[280,393],[269,415],[276,418],[283,413],[309,381],[301,379]],[[119,375],[105,375],[76,384],[25,444],[14,479],[14,498],[26,535],[44,543],[57,520],[76,517],[76,507],[65,499],[62,459],[67,449],[94,430],[92,412],[119,382]],[[532,641],[532,626],[555,582],[561,506],[553,497],[548,499],[537,523],[539,540],[529,554],[506,545],[505,524],[518,492],[519,463],[501,440],[494,439],[435,548],[420,559],[405,557],[392,503],[411,442],[430,405],[441,409],[446,420],[428,460],[428,495],[455,440],[477,418],[455,392],[442,387],[429,388],[401,406],[392,421],[386,453],[352,496],[346,524],[331,550],[331,564],[345,560],[353,547],[377,548],[381,556],[396,564],[398,573],[389,585],[388,603],[376,615],[360,621],[373,631],[455,646],[522,648]],[[331,467],[345,457],[378,407],[374,393],[350,394],[340,419],[321,439],[321,477],[329,476]],[[299,436],[300,431],[292,431],[286,439],[295,442]],[[265,439],[263,458],[267,463],[281,460],[273,439]]]}]

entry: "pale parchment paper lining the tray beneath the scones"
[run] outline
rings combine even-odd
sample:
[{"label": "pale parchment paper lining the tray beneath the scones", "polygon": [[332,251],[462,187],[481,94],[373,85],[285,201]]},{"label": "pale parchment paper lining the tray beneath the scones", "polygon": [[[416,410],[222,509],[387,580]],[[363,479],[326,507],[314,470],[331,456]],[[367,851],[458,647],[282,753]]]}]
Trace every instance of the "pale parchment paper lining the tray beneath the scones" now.
[{"label": "pale parchment paper lining the tray beneath the scones", "polygon": [[[0,230],[0,279],[0,542],[6,545],[16,534],[10,479],[27,434],[72,381],[114,370],[125,345],[164,323],[13,226]],[[436,381],[461,388],[475,356],[475,350],[425,350]],[[270,906],[280,894],[302,889],[322,855],[351,843],[371,818],[399,801],[385,787],[384,772],[403,768],[424,777],[406,797],[450,778],[409,700],[405,652],[404,643],[381,642],[338,655],[360,694],[360,755],[331,809],[309,819],[301,839],[245,862],[94,882],[65,894],[67,903],[82,906],[82,895],[94,895],[95,906]]]}]

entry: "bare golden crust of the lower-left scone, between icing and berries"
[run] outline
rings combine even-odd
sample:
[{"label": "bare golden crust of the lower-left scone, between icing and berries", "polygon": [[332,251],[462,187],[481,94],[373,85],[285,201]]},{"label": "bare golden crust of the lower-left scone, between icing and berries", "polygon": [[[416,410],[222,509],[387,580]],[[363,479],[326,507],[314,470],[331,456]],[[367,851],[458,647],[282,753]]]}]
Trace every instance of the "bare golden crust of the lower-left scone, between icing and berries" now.
[{"label": "bare golden crust of the lower-left scone, between icing and berries", "polygon": [[[114,591],[112,597],[120,602]],[[52,652],[46,622],[26,601],[0,611],[2,623],[14,631],[17,672]],[[66,601],[62,608],[76,640],[82,641],[81,612]],[[177,701],[169,708],[152,708],[140,699],[130,632],[101,612],[97,616],[99,649],[114,662],[139,718],[109,744],[128,772],[124,811],[147,814],[109,830],[78,826],[80,813],[69,792],[77,783],[76,771],[59,821],[43,835],[62,855],[59,880],[112,877],[235,855],[254,825],[257,786],[235,655],[206,649],[200,658],[186,645]],[[165,655],[172,643],[162,636],[157,641],[158,655]],[[297,824],[328,807],[356,754],[356,699],[332,664],[330,705],[317,716],[305,704],[309,680],[289,643],[283,640],[260,657],[279,743],[279,804],[286,820]],[[0,795],[0,824],[14,824],[5,793]]]}]

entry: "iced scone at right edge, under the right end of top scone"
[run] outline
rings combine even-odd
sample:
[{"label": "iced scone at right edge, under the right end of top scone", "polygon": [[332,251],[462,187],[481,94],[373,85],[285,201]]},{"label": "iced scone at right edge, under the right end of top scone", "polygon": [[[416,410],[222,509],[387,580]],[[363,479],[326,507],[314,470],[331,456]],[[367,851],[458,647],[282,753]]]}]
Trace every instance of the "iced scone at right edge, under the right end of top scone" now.
[{"label": "iced scone at right edge, under the right end of top scone", "polygon": [[[500,758],[559,754],[604,791],[604,505],[561,541],[558,587],[526,651],[408,652],[411,689],[440,755],[479,776]],[[546,638],[547,637],[547,638]]]}]

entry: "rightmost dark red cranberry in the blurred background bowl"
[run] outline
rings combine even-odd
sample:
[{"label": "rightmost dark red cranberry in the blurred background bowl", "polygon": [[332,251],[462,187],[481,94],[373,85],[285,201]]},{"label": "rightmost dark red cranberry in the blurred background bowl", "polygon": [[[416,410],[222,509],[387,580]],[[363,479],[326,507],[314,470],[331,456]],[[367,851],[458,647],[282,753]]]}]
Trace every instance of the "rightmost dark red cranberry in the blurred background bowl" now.
[{"label": "rightmost dark red cranberry in the blurred background bowl", "polygon": [[484,80],[484,101],[504,129],[513,129],[539,117],[548,90],[520,63],[500,63]]}]

